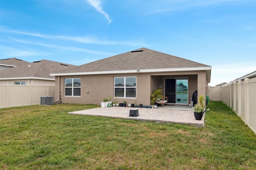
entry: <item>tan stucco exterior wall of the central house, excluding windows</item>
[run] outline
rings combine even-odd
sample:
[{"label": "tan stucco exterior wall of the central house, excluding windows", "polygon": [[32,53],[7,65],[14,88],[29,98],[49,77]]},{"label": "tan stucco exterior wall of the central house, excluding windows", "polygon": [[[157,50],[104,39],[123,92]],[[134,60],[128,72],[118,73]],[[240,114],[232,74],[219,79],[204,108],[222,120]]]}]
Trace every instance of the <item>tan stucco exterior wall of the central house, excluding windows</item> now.
[{"label": "tan stucco exterior wall of the central house, excluding windows", "polygon": [[[164,88],[165,78],[188,78],[188,103],[195,90],[198,94],[206,95],[206,72],[205,71],[179,71],[164,73],[131,73],[131,74],[108,74],[108,75],[80,75],[80,76],[56,76],[55,81],[55,99],[58,99],[59,91],[61,91],[62,103],[81,103],[81,104],[97,104],[100,105],[104,98],[112,97],[112,102],[116,102],[114,98],[114,77],[136,76],[136,98],[118,97],[118,103],[127,101],[127,103],[137,103],[150,105],[150,94],[154,89],[162,85]],[[64,94],[65,78],[81,78],[81,96],[66,97]]]}]

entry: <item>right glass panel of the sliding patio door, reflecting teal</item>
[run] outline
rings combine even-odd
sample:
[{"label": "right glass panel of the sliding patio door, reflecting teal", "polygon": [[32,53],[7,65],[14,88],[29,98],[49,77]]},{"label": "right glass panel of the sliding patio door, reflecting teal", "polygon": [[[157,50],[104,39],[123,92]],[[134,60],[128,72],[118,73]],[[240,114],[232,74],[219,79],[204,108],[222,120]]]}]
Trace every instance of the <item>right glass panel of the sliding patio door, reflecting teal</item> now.
[{"label": "right glass panel of the sliding patio door, reflecting teal", "polygon": [[176,79],[176,103],[188,104],[188,79]]}]

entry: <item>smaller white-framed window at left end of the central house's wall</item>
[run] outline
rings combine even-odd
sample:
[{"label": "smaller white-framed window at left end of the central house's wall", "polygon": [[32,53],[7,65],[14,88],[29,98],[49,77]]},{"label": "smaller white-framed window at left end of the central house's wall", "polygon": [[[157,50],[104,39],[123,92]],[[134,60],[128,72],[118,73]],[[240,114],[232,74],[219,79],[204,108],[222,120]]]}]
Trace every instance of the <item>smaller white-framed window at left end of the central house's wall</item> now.
[{"label": "smaller white-framed window at left end of the central house's wall", "polygon": [[80,96],[81,78],[65,79],[65,96]]}]

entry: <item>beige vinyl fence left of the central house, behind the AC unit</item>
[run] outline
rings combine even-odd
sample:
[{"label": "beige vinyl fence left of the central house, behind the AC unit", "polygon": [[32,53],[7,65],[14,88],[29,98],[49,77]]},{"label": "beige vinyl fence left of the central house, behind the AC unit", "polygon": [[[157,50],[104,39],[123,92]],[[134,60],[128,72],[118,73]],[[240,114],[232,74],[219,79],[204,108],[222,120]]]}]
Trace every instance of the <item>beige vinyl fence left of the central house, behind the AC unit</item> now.
[{"label": "beige vinyl fence left of the central house, behind the AC unit", "polygon": [[40,105],[42,96],[54,96],[54,85],[0,84],[0,108]]}]

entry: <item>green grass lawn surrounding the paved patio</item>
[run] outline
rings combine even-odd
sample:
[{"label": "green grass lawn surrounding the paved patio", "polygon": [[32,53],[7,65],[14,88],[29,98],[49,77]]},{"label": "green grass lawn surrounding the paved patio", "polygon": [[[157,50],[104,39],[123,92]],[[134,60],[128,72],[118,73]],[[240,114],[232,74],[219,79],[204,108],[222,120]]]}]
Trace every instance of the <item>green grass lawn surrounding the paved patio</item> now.
[{"label": "green grass lawn surrounding the paved patio", "polygon": [[256,135],[222,102],[204,128],[67,114],[94,107],[0,109],[0,169],[256,169]]}]

